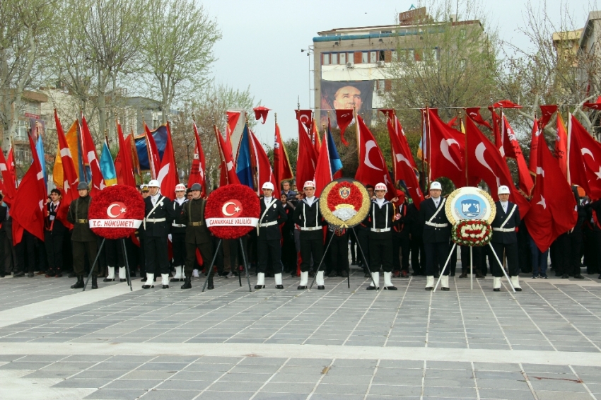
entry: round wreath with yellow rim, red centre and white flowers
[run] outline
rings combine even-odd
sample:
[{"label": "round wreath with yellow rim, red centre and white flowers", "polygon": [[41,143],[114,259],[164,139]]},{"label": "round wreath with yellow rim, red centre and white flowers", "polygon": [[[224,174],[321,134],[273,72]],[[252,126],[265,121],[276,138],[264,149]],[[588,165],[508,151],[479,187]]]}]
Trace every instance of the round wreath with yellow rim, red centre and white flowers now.
[{"label": "round wreath with yellow rim, red centre and white flowers", "polygon": [[323,189],[320,211],[329,225],[352,228],[369,213],[371,199],[366,187],[356,180],[342,178],[329,182]]}]

